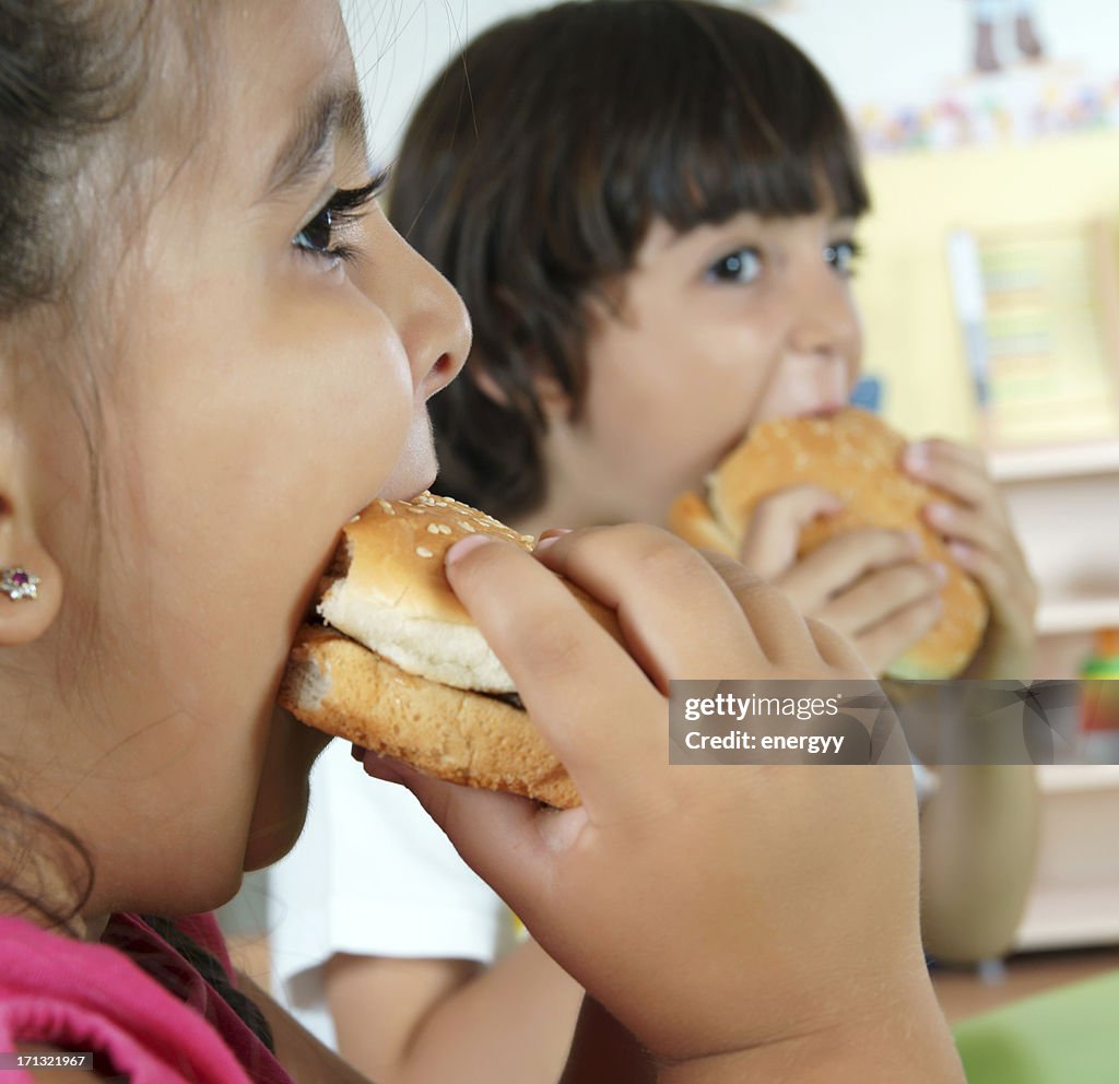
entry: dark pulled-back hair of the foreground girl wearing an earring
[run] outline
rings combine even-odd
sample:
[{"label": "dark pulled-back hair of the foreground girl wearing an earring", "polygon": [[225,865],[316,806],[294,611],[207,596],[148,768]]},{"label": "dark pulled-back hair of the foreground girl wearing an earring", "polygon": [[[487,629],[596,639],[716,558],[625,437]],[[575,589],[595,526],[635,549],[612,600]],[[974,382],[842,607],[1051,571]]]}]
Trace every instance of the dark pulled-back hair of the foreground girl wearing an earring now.
[{"label": "dark pulled-back hair of the foreground girl wearing an earring", "polygon": [[[87,220],[95,208],[84,182],[96,154],[95,138],[103,144],[132,120],[147,89],[144,76],[152,62],[148,31],[157,3],[0,0],[0,332],[46,304],[65,312],[69,323],[81,324],[74,293],[96,236],[96,226]],[[185,30],[198,30],[196,8],[180,3],[176,13],[186,16]],[[194,41],[197,45],[197,34]],[[3,352],[4,341],[0,333],[0,380],[10,385],[15,359]],[[76,408],[95,400],[95,395],[64,390]],[[83,418],[87,427],[96,421]],[[0,517],[4,511],[0,493]],[[50,868],[69,874],[73,890],[65,903],[58,899],[57,886],[48,887],[40,877],[48,856]],[[74,832],[3,785],[0,863],[7,863],[0,864],[0,897],[13,903],[16,913],[74,932],[74,920],[93,888],[90,854]],[[233,987],[220,964],[172,923],[148,921],[271,1048],[262,1014]],[[179,992],[166,962],[157,965],[150,953],[138,953],[137,962]]]}]

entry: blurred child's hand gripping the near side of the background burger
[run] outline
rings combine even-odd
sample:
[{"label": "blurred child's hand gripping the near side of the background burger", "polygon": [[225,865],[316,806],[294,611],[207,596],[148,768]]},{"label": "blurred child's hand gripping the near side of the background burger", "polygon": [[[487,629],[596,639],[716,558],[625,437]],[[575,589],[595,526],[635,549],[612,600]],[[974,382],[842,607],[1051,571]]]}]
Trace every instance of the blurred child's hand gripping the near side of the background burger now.
[{"label": "blurred child's hand gripping the near side of the background burger", "polygon": [[841,632],[872,672],[883,673],[940,619],[943,569],[919,560],[920,543],[905,531],[871,527],[799,558],[801,529],[841,507],[819,486],[792,486],[763,498],[751,516],[741,560],[801,613]]}]

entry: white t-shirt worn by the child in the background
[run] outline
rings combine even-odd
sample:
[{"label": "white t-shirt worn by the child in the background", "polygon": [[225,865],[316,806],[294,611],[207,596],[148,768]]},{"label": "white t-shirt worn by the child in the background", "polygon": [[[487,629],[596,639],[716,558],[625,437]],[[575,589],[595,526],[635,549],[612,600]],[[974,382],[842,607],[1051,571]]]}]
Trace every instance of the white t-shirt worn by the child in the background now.
[{"label": "white t-shirt worn by the child in the background", "polygon": [[273,988],[336,1046],[322,965],[335,953],[492,963],[514,941],[500,897],[403,786],[335,741],[311,772],[307,827],[269,870]]}]

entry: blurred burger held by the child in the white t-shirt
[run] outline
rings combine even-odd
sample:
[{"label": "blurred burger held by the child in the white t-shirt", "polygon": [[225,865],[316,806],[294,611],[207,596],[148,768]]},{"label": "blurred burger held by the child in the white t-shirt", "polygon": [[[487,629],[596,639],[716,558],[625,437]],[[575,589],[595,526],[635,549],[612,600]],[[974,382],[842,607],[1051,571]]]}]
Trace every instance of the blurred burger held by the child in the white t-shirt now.
[{"label": "blurred burger held by the child in the white t-shirt", "polygon": [[908,530],[922,556],[948,569],[940,621],[887,673],[933,679],[959,673],[974,658],[987,626],[987,600],[957,564],[943,539],[921,516],[931,500],[952,501],[902,471],[904,439],[874,414],[848,408],[828,416],[775,418],[754,426],[707,477],[706,493],[683,493],[669,510],[671,529],[694,546],[736,557],[758,502],[806,482],[822,486],[845,505],[801,531],[801,556],[859,527]]}]

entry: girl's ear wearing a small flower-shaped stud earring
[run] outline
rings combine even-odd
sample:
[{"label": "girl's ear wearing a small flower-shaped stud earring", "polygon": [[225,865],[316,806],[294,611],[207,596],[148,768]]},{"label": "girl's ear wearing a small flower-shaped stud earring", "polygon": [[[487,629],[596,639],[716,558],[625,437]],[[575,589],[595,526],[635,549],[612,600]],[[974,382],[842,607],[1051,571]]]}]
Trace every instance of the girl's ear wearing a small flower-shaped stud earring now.
[{"label": "girl's ear wearing a small flower-shaped stud earring", "polygon": [[62,571],[36,530],[8,423],[0,413],[0,648],[38,640],[63,600]]}]

